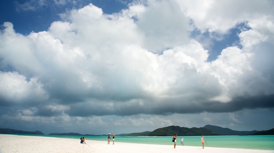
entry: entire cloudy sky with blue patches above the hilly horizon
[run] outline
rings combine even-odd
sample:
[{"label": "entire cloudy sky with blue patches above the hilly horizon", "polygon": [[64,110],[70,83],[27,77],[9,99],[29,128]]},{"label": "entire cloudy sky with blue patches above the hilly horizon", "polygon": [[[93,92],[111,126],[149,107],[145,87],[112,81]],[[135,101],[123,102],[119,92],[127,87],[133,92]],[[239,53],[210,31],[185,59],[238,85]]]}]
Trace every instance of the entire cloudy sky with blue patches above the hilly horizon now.
[{"label": "entire cloudy sky with blue patches above the hilly horizon", "polygon": [[2,0],[0,128],[274,128],[270,0]]}]

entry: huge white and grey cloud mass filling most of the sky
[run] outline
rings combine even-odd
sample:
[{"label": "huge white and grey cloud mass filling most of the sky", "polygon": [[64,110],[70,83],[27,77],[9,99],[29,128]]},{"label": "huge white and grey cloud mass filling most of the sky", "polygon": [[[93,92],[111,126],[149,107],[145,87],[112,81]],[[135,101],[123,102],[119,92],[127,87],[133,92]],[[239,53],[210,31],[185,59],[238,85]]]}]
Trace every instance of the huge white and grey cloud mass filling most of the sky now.
[{"label": "huge white and grey cloud mass filling most of the sky", "polygon": [[[39,124],[104,126],[105,115],[118,115],[112,120],[117,127],[162,127],[178,123],[167,118],[174,113],[273,108],[274,20],[273,12],[261,9],[272,8],[267,2],[241,1],[227,9],[235,2],[148,0],[113,14],[89,4],[26,36],[5,22],[1,109],[15,105],[15,118],[39,118]],[[238,35],[242,47],[224,48],[211,62],[199,39],[190,38],[193,25],[223,35],[241,22],[251,28]],[[21,109],[26,105],[33,109]],[[243,123],[233,114],[228,120]]]}]

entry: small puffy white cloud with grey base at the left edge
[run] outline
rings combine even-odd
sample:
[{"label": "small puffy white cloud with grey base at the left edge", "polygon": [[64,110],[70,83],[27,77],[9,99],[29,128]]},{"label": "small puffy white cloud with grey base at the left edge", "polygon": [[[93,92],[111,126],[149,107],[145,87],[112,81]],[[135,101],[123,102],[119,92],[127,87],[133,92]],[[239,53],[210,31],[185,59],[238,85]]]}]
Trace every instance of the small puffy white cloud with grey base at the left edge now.
[{"label": "small puffy white cloud with grey base at the left edge", "polygon": [[29,106],[36,105],[47,100],[48,95],[42,89],[38,78],[27,78],[18,72],[0,71],[0,91],[2,106]]}]

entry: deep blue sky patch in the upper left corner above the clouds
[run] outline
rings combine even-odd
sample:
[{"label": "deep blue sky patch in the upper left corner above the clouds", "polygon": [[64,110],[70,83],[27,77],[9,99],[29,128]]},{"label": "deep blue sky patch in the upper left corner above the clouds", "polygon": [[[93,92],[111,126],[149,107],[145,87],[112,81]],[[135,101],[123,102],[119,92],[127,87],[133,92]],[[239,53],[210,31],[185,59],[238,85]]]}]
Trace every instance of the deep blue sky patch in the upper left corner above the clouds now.
[{"label": "deep blue sky patch in the upper left corner above the clouds", "polygon": [[39,4],[39,1],[4,0],[0,2],[0,24],[12,22],[17,33],[28,35],[32,31],[47,31],[52,22],[61,21],[60,13],[79,9],[92,3],[96,7],[102,8],[103,13],[112,14],[127,8],[130,1],[82,0],[76,3],[66,1],[64,4],[46,1]]}]

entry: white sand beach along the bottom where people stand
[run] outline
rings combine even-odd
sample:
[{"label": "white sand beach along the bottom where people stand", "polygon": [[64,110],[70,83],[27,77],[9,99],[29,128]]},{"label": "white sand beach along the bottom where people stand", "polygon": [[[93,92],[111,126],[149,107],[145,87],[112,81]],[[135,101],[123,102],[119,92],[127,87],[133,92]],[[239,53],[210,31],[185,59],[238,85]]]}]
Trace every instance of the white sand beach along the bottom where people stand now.
[{"label": "white sand beach along the bottom where people stand", "polygon": [[41,136],[22,136],[0,134],[0,152],[98,152],[98,153],[128,153],[128,152],[187,152],[187,153],[274,153],[273,150],[253,150],[234,148],[212,148],[181,146],[179,143],[176,149],[173,145],[149,145],[136,143],[115,142],[112,145],[106,141],[86,140],[87,144],[81,144],[80,139],[54,138]]}]

